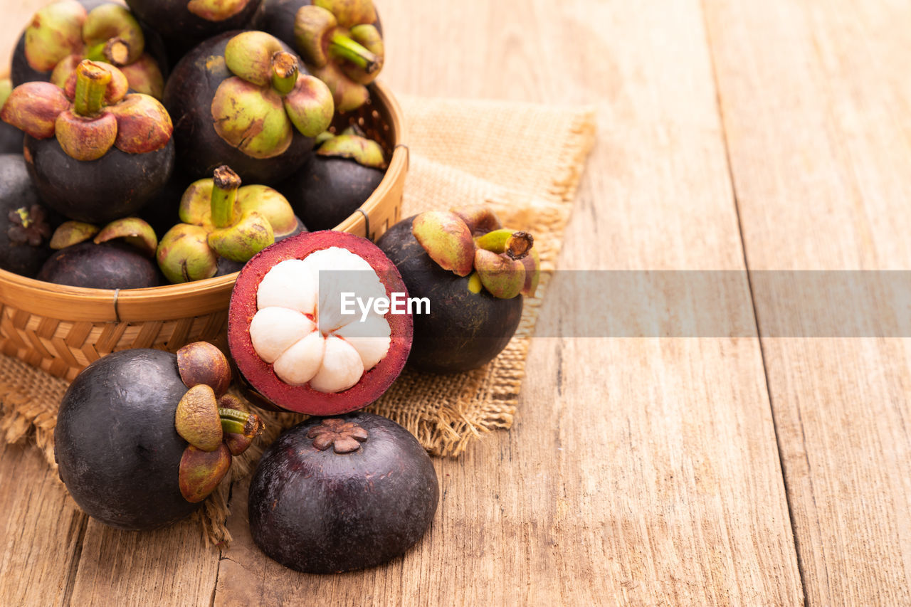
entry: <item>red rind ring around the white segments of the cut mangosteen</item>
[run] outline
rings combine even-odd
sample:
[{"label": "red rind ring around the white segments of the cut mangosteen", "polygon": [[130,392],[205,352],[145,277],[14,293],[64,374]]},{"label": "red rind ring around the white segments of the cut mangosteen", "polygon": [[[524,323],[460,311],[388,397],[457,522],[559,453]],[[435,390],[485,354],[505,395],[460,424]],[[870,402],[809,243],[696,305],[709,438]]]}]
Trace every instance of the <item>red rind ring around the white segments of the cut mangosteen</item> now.
[{"label": "red rind ring around the white segments of the cut mangosteen", "polygon": [[250,326],[257,313],[257,293],[263,277],[278,263],[305,259],[313,252],[339,247],[361,257],[384,285],[386,297],[407,293],[401,274],[382,251],[360,236],[340,231],[302,233],[267,247],[257,253],[238,275],[231,292],[228,312],[228,344],[241,376],[258,396],[275,406],[308,415],[338,415],[368,406],[392,385],[404,368],[411,350],[414,324],[411,314],[384,315],[391,334],[391,344],[383,360],[363,373],[352,387],[338,393],[325,393],[309,385],[291,386],[275,375],[272,365],[263,361],[253,349]]}]

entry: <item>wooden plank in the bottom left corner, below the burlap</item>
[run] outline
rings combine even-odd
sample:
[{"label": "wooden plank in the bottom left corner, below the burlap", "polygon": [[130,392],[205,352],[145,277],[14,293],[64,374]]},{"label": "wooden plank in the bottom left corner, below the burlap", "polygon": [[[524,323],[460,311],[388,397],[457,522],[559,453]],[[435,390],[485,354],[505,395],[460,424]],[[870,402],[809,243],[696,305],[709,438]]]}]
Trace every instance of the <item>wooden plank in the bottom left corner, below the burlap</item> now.
[{"label": "wooden plank in the bottom left corner, below the burlap", "polygon": [[67,604],[87,516],[34,445],[0,439],[0,488],[0,604]]}]

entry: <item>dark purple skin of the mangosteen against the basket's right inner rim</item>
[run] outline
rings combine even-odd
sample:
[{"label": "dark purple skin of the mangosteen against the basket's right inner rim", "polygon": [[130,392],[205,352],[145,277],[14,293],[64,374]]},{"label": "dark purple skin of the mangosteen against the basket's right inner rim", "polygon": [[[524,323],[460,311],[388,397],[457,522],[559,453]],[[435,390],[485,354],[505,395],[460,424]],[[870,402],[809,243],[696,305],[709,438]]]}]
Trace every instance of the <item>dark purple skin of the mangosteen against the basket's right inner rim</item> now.
[{"label": "dark purple skin of the mangosteen against the basket's right inner rim", "polygon": [[384,170],[353,159],[313,154],[278,190],[311,230],[332,230],[361,207],[383,180]]}]

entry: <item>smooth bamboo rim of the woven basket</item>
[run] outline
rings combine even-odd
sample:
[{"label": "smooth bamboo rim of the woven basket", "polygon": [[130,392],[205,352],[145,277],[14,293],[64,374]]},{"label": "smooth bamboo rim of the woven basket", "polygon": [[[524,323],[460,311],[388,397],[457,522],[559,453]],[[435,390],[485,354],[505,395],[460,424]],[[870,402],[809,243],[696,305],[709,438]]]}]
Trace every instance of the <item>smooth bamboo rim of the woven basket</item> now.
[{"label": "smooth bamboo rim of the woven basket", "polygon": [[[363,202],[358,211],[333,230],[364,234],[367,222],[361,211],[370,214],[384,200],[391,184],[408,170],[409,152],[402,108],[392,91],[375,81],[371,88],[377,101],[389,113],[393,135],[392,159],[380,185]],[[365,234],[368,238],[369,234]],[[145,289],[87,289],[46,283],[11,273],[0,268],[0,304],[25,310],[29,314],[48,316],[67,322],[148,322],[185,318],[186,308],[192,306],[192,316],[214,314],[224,310],[224,302],[237,280],[238,273],[207,278],[201,281],[168,284]],[[200,299],[200,294],[209,297]],[[26,305],[24,305],[27,302]],[[155,310],[151,313],[150,309]]]}]

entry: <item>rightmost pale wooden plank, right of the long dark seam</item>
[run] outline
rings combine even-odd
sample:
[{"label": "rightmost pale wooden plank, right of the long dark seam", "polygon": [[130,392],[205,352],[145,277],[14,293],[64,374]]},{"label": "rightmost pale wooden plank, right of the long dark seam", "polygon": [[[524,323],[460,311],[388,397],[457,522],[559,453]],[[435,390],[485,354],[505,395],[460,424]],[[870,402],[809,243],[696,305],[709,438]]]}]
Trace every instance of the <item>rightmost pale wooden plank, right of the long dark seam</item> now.
[{"label": "rightmost pale wooden plank, right of the long dark seam", "polygon": [[[750,268],[911,266],[911,7],[706,9]],[[884,289],[875,304],[906,309],[890,310]],[[906,340],[776,338],[763,318],[783,318],[783,293],[754,293],[808,602],[911,602]],[[824,309],[819,293],[801,296]]]}]

